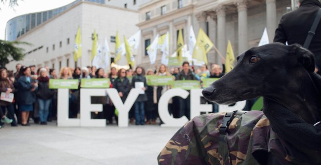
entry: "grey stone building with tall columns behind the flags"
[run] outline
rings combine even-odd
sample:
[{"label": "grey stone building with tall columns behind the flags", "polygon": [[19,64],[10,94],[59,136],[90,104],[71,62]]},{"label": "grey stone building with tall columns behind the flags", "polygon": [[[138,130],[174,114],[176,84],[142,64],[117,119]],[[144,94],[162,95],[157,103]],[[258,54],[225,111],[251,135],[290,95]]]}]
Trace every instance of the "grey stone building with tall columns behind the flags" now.
[{"label": "grey stone building with tall columns behind the flags", "polygon": [[[178,30],[182,29],[184,43],[187,44],[191,26],[196,36],[202,28],[223,56],[230,40],[237,56],[258,45],[265,27],[272,42],[287,7],[291,7],[291,0],[152,0],[139,8],[137,26],[142,30],[143,52],[138,58],[140,65],[153,68],[144,52],[157,34],[170,33],[170,53],[173,53]],[[214,49],[207,57],[209,65],[222,63]],[[160,58],[159,53],[157,63],[160,63]]]}]

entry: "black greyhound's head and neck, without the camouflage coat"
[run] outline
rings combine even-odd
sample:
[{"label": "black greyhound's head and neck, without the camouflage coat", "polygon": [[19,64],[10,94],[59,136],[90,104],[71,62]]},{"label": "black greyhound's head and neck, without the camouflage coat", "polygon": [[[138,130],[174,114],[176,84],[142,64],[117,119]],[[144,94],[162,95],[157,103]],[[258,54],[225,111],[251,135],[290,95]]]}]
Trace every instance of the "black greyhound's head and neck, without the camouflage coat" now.
[{"label": "black greyhound's head and neck, without the camouflage coat", "polygon": [[237,57],[231,72],[202,91],[219,104],[264,97],[263,112],[278,135],[321,151],[321,77],[314,55],[300,45],[267,44]]}]

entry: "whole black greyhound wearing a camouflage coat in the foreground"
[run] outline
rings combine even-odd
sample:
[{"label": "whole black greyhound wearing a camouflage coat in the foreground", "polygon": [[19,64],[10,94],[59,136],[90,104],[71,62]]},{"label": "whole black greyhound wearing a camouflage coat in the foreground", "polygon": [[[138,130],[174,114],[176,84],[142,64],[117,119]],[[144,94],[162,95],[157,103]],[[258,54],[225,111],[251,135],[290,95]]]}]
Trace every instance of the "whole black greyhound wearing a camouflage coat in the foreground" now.
[{"label": "whole black greyhound wearing a camouflage coat in the foreground", "polygon": [[251,48],[231,72],[205,88],[219,104],[264,97],[261,111],[199,115],[181,127],[159,164],[321,165],[321,77],[300,45]]}]

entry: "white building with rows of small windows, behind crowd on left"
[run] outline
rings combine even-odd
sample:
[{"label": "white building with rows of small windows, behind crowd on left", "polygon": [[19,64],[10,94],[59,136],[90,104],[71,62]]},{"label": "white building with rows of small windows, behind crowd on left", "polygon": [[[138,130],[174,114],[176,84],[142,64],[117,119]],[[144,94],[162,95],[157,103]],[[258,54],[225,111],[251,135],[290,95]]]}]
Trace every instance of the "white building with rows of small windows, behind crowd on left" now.
[{"label": "white building with rows of small windows, behind crowd on left", "polygon": [[[70,8],[20,35],[16,40],[29,42],[32,45],[22,46],[26,52],[23,61],[13,61],[7,67],[14,69],[17,63],[21,63],[24,66],[36,65],[37,68],[49,66],[59,71],[64,66],[91,66],[90,54],[94,30],[98,35],[98,43],[103,45],[104,38],[107,38],[113,58],[117,31],[123,41],[123,34],[129,37],[139,31],[137,23],[136,10],[85,0],[76,1]],[[73,45],[79,26],[82,57],[74,62]],[[125,57],[119,64],[126,64]]]}]

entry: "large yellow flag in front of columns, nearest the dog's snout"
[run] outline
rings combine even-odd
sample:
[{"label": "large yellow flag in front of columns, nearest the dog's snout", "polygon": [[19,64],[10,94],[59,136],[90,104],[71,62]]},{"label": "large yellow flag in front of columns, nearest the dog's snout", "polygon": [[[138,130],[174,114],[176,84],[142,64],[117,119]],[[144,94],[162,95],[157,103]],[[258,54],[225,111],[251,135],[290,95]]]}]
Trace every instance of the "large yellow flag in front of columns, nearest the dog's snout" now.
[{"label": "large yellow flag in front of columns, nearest the dog's snout", "polygon": [[207,56],[212,47],[213,43],[206,33],[200,28],[197,34],[196,44],[193,50],[193,58],[199,61],[203,61],[207,65]]}]

